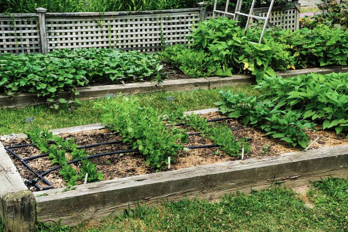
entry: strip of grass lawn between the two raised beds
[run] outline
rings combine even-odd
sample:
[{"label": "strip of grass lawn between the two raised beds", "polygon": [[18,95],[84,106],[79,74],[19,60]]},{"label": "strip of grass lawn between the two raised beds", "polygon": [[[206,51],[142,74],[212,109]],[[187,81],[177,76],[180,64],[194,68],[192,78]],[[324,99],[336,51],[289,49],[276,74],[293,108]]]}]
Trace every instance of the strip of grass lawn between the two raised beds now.
[{"label": "strip of grass lawn between the two raised beds", "polygon": [[[223,88],[228,90],[231,87]],[[158,92],[152,94],[139,94],[136,98],[143,106],[152,106],[163,112],[166,106],[184,106],[187,111],[212,108],[214,102],[219,101],[220,89],[194,90],[178,93]],[[233,87],[234,93],[247,93],[260,95],[260,90],[251,86]],[[174,96],[174,101],[166,101],[166,97]],[[60,104],[58,110],[51,109],[49,105],[29,106],[21,109],[0,109],[0,135],[24,133],[27,125],[24,120],[34,116],[34,124],[45,129],[80,126],[100,122],[101,111],[92,109],[95,101],[105,101],[99,98],[94,101],[81,101],[74,104],[75,110],[71,113],[68,104]]]}]

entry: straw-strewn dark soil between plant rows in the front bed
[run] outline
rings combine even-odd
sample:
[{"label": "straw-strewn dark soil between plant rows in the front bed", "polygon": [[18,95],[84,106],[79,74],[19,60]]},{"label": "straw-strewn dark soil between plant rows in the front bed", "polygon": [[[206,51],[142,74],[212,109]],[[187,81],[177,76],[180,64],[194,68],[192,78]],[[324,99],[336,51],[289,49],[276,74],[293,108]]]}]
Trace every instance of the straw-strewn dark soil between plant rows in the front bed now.
[{"label": "straw-strewn dark soil between plant rows in the front bed", "polygon": [[[224,117],[219,112],[211,112],[203,115],[207,119],[222,118]],[[268,137],[258,129],[252,127],[243,126],[239,120],[227,119],[219,121],[218,123],[225,122],[232,130],[232,134],[235,136],[235,139],[240,139],[241,137],[253,138],[250,141],[251,151],[249,154],[244,154],[244,158],[264,158],[273,155],[279,155],[282,153],[301,151],[300,147],[292,147],[286,142]],[[213,122],[215,123],[215,122]],[[187,126],[182,126],[182,128],[188,129],[188,133],[198,132],[194,131]],[[109,142],[115,140],[121,140],[120,136],[117,135],[107,135],[111,131],[108,129],[101,130],[87,130],[76,133],[65,133],[60,134],[60,137],[65,139],[70,139],[71,137],[75,138],[75,143],[79,146]],[[319,136],[319,139],[313,144],[311,149],[318,149],[322,147],[336,146],[348,144],[348,138],[344,136],[337,135],[334,131],[307,131],[309,140],[313,141],[316,137]],[[5,143],[4,146],[14,146],[18,144],[30,144],[29,139],[13,139],[8,143]],[[187,143],[183,144],[184,146],[198,146],[212,144],[208,138],[202,137],[200,135],[191,135]],[[264,145],[270,145],[268,148],[268,153],[262,152]],[[109,144],[101,145],[96,147],[87,148],[86,151],[88,155],[127,150],[132,149],[128,144]],[[41,154],[40,151],[34,146],[27,146],[21,148],[11,149],[16,152],[22,159],[32,157],[34,155]],[[216,154],[217,151],[217,154]],[[69,156],[69,153],[66,153]],[[26,167],[22,165],[13,155],[10,154],[10,157],[15,163],[16,168],[19,171],[19,174],[22,178],[35,179],[36,177],[29,171]],[[70,158],[70,157],[68,157]],[[218,147],[212,148],[200,148],[200,149],[190,149],[189,151],[180,151],[178,157],[175,161],[171,160],[171,170],[176,170],[180,168],[188,168],[200,165],[207,165],[213,163],[221,163],[233,160],[240,160],[239,157],[232,157],[220,151]],[[115,178],[122,178],[128,176],[143,175],[148,173],[153,173],[155,170],[151,169],[149,166],[145,165],[145,159],[140,153],[124,153],[124,154],[115,154],[115,155],[106,155],[103,157],[98,157],[90,160],[92,163],[97,163],[98,171],[103,171],[104,180],[110,180]],[[35,160],[28,161],[28,164],[33,168],[33,170],[38,173],[42,173],[53,166],[48,157],[43,157]],[[79,173],[80,169],[78,164],[73,164],[73,167]],[[165,169],[163,171],[168,171]],[[65,186],[65,181],[62,179],[62,176],[58,174],[59,170],[53,171],[52,173],[45,176],[45,178],[51,182],[54,187],[63,187]],[[83,183],[83,180],[78,181],[79,184]],[[42,181],[39,181],[40,186],[46,186]]]}]

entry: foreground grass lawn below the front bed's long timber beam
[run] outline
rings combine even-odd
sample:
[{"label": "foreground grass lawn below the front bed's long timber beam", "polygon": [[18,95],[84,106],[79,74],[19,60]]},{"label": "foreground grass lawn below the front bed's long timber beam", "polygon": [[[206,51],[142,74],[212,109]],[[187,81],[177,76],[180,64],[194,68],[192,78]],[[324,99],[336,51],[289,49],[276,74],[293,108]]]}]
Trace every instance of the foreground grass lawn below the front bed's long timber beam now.
[{"label": "foreground grass lawn below the front bed's long timber beam", "polygon": [[250,195],[226,196],[219,202],[198,199],[166,202],[160,207],[128,210],[116,218],[72,228],[40,224],[37,231],[343,232],[348,231],[348,179],[329,178],[313,183],[307,194],[276,187]]}]

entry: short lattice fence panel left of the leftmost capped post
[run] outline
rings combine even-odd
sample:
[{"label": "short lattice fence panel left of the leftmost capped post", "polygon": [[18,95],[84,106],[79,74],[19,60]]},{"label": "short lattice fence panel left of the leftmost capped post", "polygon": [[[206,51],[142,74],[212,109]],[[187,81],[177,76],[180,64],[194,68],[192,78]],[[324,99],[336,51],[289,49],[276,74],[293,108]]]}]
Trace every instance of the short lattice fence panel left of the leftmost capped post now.
[{"label": "short lattice fence panel left of the leftmost capped post", "polygon": [[37,14],[0,15],[0,52],[41,52]]}]

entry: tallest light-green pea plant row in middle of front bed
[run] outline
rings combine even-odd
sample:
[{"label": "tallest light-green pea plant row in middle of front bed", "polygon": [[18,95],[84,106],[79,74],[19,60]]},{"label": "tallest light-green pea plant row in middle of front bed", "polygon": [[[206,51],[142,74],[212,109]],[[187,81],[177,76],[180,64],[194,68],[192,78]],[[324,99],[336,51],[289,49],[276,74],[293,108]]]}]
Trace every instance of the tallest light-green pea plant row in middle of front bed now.
[{"label": "tallest light-green pea plant row in middle of front bed", "polygon": [[188,141],[186,130],[166,129],[163,117],[158,117],[152,107],[140,107],[134,96],[109,98],[104,103],[95,103],[95,107],[102,109],[102,124],[120,133],[123,141],[130,143],[133,149],[139,149],[146,164],[156,171],[168,164],[168,156],[174,159],[183,149],[177,140]]}]

